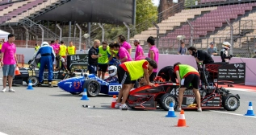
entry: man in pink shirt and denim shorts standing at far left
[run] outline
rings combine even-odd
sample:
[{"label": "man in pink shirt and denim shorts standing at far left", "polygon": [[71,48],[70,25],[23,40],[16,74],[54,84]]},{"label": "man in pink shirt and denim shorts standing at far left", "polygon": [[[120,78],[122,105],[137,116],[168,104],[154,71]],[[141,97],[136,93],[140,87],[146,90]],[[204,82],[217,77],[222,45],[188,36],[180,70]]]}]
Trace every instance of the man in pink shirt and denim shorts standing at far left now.
[{"label": "man in pink shirt and denim shorts standing at far left", "polygon": [[2,66],[2,92],[6,92],[6,83],[8,76],[9,92],[15,92],[12,88],[12,80],[15,77],[15,68],[18,65],[16,57],[15,35],[8,35],[8,41],[2,44],[1,66]]}]

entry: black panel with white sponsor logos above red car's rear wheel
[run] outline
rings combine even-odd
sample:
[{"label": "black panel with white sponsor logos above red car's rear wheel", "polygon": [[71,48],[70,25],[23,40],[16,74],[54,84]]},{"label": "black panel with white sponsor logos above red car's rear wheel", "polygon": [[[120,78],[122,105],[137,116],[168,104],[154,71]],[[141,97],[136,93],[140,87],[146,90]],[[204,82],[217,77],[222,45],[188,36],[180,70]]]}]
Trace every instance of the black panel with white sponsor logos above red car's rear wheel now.
[{"label": "black panel with white sponsor logos above red car's rear wheel", "polygon": [[218,69],[218,84],[245,84],[246,63],[230,63]]}]

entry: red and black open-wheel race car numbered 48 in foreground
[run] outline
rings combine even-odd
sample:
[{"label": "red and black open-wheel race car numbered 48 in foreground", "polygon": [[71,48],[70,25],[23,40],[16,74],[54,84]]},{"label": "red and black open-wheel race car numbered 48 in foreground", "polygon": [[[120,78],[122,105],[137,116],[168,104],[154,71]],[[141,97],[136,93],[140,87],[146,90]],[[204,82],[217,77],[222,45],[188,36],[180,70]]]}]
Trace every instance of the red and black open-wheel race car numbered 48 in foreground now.
[{"label": "red and black open-wheel race car numbered 48 in foreground", "polygon": [[[204,76],[206,74],[208,73],[204,72]],[[159,81],[155,82],[155,87],[133,88],[129,93],[126,104],[131,108],[143,109],[156,109],[159,106],[168,111],[170,102],[174,103],[174,108],[178,106],[178,88],[179,84]],[[228,111],[235,111],[240,106],[240,96],[238,94],[233,95],[225,88],[217,88],[214,83],[212,86],[208,86],[207,89],[199,90],[199,93],[202,109],[225,108]],[[192,88],[184,92],[182,108],[197,108]]]}]

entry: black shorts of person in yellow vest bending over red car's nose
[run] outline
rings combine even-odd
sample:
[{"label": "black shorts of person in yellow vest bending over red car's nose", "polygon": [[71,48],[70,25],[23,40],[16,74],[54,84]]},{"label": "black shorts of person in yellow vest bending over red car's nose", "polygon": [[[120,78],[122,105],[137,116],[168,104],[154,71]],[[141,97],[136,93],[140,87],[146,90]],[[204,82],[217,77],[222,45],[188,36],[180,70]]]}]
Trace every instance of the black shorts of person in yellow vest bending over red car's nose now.
[{"label": "black shorts of person in yellow vest bending over red car's nose", "polygon": [[124,68],[117,68],[117,77],[119,84],[135,84],[136,80],[131,80],[131,76],[128,72],[124,71]]}]

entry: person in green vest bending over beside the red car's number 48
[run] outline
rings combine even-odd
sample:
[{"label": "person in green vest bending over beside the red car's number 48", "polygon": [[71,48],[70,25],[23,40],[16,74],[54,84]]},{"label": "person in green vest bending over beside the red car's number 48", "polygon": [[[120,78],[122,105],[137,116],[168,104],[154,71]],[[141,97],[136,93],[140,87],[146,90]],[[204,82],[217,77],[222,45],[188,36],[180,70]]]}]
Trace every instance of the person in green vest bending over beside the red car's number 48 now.
[{"label": "person in green vest bending over beside the red car's number 48", "polygon": [[178,91],[178,108],[177,111],[181,111],[183,104],[183,94],[186,88],[190,87],[190,84],[193,86],[193,92],[195,93],[195,100],[197,103],[197,111],[201,112],[201,98],[199,93],[199,72],[187,64],[174,63],[174,72],[178,79],[178,84],[180,85]]}]

